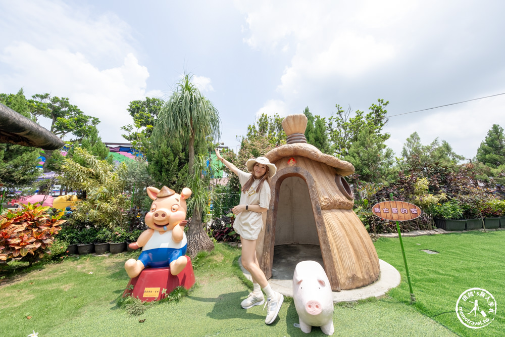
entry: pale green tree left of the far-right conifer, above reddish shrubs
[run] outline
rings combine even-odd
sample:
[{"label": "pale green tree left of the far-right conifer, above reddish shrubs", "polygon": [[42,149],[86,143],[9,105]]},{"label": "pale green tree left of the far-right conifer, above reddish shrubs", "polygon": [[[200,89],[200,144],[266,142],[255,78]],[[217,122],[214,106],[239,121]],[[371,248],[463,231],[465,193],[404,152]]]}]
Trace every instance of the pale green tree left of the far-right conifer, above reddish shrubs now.
[{"label": "pale green tree left of the far-right conifer, above reddish shrubs", "polygon": [[440,142],[438,137],[429,145],[421,143],[421,137],[417,132],[412,133],[407,139],[401,150],[403,158],[417,158],[421,163],[453,166],[458,164],[465,157],[456,154],[449,143],[445,140]]}]

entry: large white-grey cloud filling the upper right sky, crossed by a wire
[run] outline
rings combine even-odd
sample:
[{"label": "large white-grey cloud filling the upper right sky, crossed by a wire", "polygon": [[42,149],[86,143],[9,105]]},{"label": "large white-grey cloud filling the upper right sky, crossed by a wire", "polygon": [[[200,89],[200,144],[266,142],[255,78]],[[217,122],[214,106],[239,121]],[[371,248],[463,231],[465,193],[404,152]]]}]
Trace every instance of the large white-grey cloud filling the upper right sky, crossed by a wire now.
[{"label": "large white-grey cloud filling the upper right sky, crossed by a wire", "polygon": [[[368,111],[383,98],[394,114],[503,92],[502,62],[495,57],[502,55],[496,44],[502,5],[485,4],[493,11],[431,0],[240,2],[245,43],[289,58],[276,92],[259,111],[275,110],[276,102],[286,111],[309,106],[329,117],[335,104]],[[385,129],[387,143],[399,156],[405,139],[418,131],[424,143],[439,137],[473,157],[493,122],[503,119],[496,100],[479,104],[486,108],[467,104],[394,118]]]}]

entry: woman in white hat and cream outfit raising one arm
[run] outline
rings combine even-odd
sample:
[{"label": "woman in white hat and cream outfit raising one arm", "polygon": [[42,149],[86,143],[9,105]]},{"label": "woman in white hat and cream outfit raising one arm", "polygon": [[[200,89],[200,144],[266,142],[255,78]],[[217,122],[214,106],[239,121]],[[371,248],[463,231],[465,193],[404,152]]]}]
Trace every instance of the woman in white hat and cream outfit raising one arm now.
[{"label": "woman in white hat and cream outfit raising one arm", "polygon": [[238,176],[242,187],[240,204],[233,207],[235,214],[233,229],[240,235],[242,243],[242,266],[251,274],[254,290],[242,301],[244,309],[265,303],[262,289],[267,295],[267,318],[265,323],[271,324],[281,308],[284,297],[272,290],[265,274],[260,268],[256,258],[256,240],[263,229],[262,213],[268,211],[270,205],[269,179],[275,174],[277,168],[265,157],[249,159],[246,162],[246,173],[224,159],[216,149],[216,156],[233,173]]}]

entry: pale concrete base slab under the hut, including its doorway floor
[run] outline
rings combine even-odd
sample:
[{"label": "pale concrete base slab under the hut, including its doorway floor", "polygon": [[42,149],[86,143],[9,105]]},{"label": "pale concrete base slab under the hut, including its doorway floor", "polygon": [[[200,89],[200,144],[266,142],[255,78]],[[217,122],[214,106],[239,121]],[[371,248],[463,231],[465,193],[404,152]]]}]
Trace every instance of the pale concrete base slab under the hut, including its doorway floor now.
[{"label": "pale concrete base slab under the hut, including its doorway floor", "polygon": [[[313,260],[323,265],[320,247],[317,245],[281,245],[275,246],[272,278],[269,280],[272,289],[284,296],[293,297],[293,273],[296,264],[300,261]],[[252,281],[251,275],[242,266],[240,258],[238,263],[245,277]],[[367,286],[332,292],[333,302],[350,302],[364,300],[369,297],[380,297],[391,288],[400,284],[400,273],[389,263],[379,259],[379,279]]]}]

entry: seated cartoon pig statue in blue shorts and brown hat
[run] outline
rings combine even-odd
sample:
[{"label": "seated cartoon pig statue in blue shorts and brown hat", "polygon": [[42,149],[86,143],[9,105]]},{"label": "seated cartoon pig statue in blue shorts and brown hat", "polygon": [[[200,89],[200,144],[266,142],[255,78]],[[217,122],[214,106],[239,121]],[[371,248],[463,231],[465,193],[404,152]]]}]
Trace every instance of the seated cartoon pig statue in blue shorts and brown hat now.
[{"label": "seated cartoon pig statue in blue shorts and brown hat", "polygon": [[179,195],[167,186],[161,190],[147,187],[147,195],[153,200],[149,213],[145,215],[145,224],[149,228],[140,234],[137,242],[129,245],[133,249],[142,247],[142,253],[138,260],[126,261],[126,273],[133,278],[145,267],[170,266],[170,273],[177,275],[187,264],[184,219],[186,199],[191,196],[191,190],[184,187]]}]

